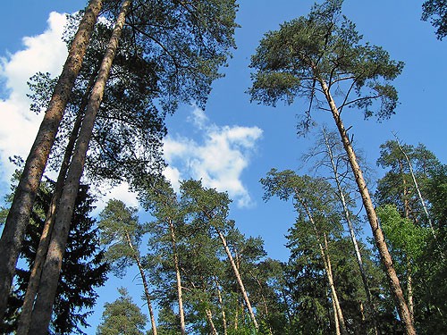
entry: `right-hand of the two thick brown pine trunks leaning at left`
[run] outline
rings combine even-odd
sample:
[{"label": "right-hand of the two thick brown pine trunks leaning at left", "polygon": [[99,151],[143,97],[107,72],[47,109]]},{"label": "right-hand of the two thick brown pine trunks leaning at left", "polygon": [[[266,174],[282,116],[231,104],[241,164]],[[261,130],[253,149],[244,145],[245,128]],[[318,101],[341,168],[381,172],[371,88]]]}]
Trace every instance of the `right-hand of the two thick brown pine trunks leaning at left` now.
[{"label": "right-hand of the two thick brown pine trunks leaning at left", "polygon": [[32,313],[30,333],[33,335],[46,334],[51,319],[57,282],[62,267],[63,254],[65,252],[65,245],[70,231],[70,222],[72,221],[74,202],[80,186],[80,177],[84,168],[89,140],[95,124],[97,111],[104,95],[105,82],[108,79],[110,68],[114,61],[114,54],[118,47],[126,13],[130,5],[131,0],[125,0],[122,3],[122,9],[115,23],[114,32],[110,38],[107,50],[105,51],[105,56],[98,72],[97,81],[95,82],[95,86],[89,98],[89,106],[84,121],[82,122],[80,135],[76,142],[76,147],[72,156],[72,163],[70,163],[70,169],[63,188],[63,195],[60,202],[61,205],[56,213],[55,228],[46,255],[46,262],[44,264],[42,279],[38,289],[38,298]]}]

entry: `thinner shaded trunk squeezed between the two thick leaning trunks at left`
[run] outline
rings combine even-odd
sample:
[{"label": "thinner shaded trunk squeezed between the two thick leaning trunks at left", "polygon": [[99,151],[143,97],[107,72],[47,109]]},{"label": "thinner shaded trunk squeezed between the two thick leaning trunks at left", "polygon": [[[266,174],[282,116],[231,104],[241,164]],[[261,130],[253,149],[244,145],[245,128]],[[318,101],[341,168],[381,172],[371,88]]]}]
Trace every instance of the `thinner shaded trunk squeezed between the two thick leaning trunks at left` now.
[{"label": "thinner shaded trunk squeezed between the two thick leaning trunks at left", "polygon": [[86,92],[82,97],[80,102],[80,109],[76,120],[73,124],[72,134],[65,148],[65,154],[63,155],[63,162],[61,163],[61,169],[55,183],[55,191],[53,197],[51,198],[51,203],[46,213],[46,219],[44,224],[44,229],[42,230],[42,235],[40,236],[40,241],[38,243],[38,250],[36,251],[36,257],[34,259],[34,264],[30,273],[30,281],[28,282],[27,291],[25,298],[23,300],[23,305],[21,306],[21,315],[19,317],[17,335],[28,335],[30,330],[30,318],[32,313],[32,306],[34,305],[34,299],[38,293],[38,284],[40,282],[40,275],[42,273],[42,266],[45,262],[46,252],[48,251],[48,245],[50,243],[51,232],[53,231],[53,225],[55,223],[55,212],[57,205],[62,196],[63,183],[65,182],[65,177],[67,174],[68,166],[70,164],[70,159],[72,158],[73,148],[78,138],[78,133],[80,131],[80,125],[82,123],[82,117],[85,112],[85,108],[89,102],[89,95],[91,88],[93,87],[97,73],[95,72],[87,86]]}]

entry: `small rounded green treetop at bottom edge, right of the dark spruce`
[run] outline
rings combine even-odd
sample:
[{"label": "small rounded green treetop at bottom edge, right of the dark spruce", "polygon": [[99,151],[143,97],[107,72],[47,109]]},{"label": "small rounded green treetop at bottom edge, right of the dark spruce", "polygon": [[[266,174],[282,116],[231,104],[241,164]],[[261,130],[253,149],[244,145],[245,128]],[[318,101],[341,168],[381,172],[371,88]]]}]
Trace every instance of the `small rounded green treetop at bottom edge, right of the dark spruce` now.
[{"label": "small rounded green treetop at bottom edge, right of the dark spruce", "polygon": [[141,313],[126,289],[118,289],[120,297],[113,303],[105,303],[102,322],[97,335],[143,335],[148,317]]}]

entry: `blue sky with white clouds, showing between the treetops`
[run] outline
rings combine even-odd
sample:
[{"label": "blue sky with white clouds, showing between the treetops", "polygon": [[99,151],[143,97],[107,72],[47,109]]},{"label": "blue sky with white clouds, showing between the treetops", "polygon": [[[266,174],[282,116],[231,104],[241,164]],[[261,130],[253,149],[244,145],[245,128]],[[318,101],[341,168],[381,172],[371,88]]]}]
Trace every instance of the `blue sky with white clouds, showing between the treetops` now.
[{"label": "blue sky with white clouds, showing between the treetops", "polygon": [[[169,163],[165,174],[174,187],[181,179],[201,179],[205,186],[227,191],[232,197],[231,217],[238,228],[250,236],[265,240],[268,255],[285,261],[288,252],[284,235],[294,222],[291,204],[272,199],[265,203],[259,179],[275,167],[278,170],[302,167],[301,155],[312,147],[312,134],[298,137],[297,115],[307,108],[305,100],[275,108],[250,103],[245,93],[250,87],[249,63],[258,41],[283,21],[306,15],[314,1],[240,0],[236,44],[232,59],[216,80],[206,110],[184,105],[167,121],[164,158]],[[420,21],[422,2],[413,0],[345,0],[343,13],[357,25],[364,40],[383,46],[393,59],[405,63],[401,76],[394,80],[400,105],[390,120],[365,121],[355,110],[344,113],[346,128],[355,134],[358,149],[374,176],[384,171],[375,167],[379,146],[393,139],[393,133],[405,143],[423,143],[442,163],[445,150],[447,111],[444,103],[447,77],[447,41],[434,36],[434,28]],[[73,13],[84,1],[22,0],[2,4],[0,20],[0,194],[9,191],[14,166],[8,157],[26,157],[42,115],[29,111],[26,81],[37,71],[58,75],[66,56],[60,40],[63,13]],[[314,111],[319,125],[333,127],[327,113]],[[106,198],[116,197],[138,206],[126,185],[110,189]],[[105,199],[97,204],[96,213]],[[141,214],[145,220],[145,214]],[[367,230],[367,229],[366,229]],[[115,287],[131,280],[138,292],[136,271],[123,281],[111,279],[98,290],[95,313],[87,332],[95,333],[104,302],[117,297]],[[112,276],[112,275],[111,275]],[[138,293],[134,294],[138,300]]]}]

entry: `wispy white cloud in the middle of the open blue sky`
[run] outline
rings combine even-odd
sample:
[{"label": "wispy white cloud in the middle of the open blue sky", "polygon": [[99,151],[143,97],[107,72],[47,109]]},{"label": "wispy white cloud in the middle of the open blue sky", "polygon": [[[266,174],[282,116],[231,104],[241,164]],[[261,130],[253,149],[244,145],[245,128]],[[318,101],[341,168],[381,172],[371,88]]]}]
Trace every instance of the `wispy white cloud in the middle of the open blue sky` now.
[{"label": "wispy white cloud in the middle of the open blue sky", "polygon": [[192,111],[190,121],[202,131],[202,141],[198,143],[180,136],[166,138],[164,158],[170,165],[166,177],[176,184],[181,177],[200,179],[208,188],[227,191],[238,206],[251,205],[241,174],[249,165],[249,157],[262,130],[257,127],[218,127],[197,107]]}]

